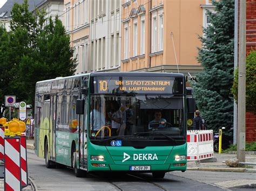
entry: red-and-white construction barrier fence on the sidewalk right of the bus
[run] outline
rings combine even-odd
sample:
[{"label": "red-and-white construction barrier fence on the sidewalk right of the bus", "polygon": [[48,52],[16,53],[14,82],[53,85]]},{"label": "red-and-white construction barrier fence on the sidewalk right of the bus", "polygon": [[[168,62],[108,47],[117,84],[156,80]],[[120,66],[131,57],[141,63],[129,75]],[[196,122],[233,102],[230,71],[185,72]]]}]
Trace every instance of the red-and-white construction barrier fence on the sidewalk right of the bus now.
[{"label": "red-and-white construction barrier fence on the sidewalk right of the bus", "polygon": [[187,131],[187,161],[213,158],[213,131]]}]

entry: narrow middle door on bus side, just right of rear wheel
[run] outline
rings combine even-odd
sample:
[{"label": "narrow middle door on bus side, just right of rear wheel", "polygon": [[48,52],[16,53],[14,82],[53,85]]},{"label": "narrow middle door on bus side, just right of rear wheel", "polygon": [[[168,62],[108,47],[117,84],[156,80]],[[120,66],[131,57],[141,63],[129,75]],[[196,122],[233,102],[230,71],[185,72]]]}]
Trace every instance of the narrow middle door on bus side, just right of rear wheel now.
[{"label": "narrow middle door on bus side, just right of rear wheel", "polygon": [[56,153],[55,153],[55,135],[56,135],[56,109],[57,109],[57,95],[51,95],[51,131],[50,131],[50,160],[56,161]]}]

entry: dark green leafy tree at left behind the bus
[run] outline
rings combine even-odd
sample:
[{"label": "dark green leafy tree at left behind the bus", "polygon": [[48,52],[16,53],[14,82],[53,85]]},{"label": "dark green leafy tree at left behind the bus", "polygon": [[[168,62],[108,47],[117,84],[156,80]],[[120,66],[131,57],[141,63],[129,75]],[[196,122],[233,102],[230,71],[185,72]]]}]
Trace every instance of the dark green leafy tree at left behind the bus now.
[{"label": "dark green leafy tree at left behind the bus", "polygon": [[76,59],[57,16],[45,19],[44,11],[30,12],[28,0],[24,0],[14,4],[11,17],[10,32],[0,28],[0,61],[5,74],[0,82],[0,105],[3,95],[16,95],[17,101],[33,104],[36,82],[73,75]]}]

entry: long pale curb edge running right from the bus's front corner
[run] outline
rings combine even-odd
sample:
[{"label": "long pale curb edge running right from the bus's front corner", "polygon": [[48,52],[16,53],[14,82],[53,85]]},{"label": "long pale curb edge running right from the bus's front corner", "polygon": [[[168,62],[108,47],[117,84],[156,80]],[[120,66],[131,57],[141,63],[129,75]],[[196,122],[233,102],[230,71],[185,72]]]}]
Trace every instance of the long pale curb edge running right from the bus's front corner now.
[{"label": "long pale curb edge running right from the bus's front corner", "polygon": [[248,172],[256,173],[256,169],[247,169],[247,168],[207,168],[207,167],[192,167],[187,168],[188,171],[215,171],[215,172]]}]

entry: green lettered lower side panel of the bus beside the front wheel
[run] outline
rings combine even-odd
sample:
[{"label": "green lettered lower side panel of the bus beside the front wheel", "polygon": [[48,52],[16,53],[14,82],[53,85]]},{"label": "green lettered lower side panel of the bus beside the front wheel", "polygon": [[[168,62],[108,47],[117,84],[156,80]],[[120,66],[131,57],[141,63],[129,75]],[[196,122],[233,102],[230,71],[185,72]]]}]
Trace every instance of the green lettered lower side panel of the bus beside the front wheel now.
[{"label": "green lettered lower side panel of the bus beside the front wheel", "polygon": [[71,146],[75,142],[78,149],[78,134],[56,131],[56,162],[71,166]]}]

